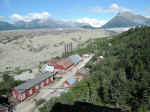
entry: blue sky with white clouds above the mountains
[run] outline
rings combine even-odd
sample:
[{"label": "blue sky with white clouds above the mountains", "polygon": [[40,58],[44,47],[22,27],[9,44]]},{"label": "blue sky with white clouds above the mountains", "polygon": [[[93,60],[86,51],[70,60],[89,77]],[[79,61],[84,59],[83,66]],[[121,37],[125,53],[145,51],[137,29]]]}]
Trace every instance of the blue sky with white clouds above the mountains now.
[{"label": "blue sky with white clouds above the mountains", "polygon": [[101,26],[118,12],[150,17],[150,0],[0,0],[0,20],[48,19]]}]

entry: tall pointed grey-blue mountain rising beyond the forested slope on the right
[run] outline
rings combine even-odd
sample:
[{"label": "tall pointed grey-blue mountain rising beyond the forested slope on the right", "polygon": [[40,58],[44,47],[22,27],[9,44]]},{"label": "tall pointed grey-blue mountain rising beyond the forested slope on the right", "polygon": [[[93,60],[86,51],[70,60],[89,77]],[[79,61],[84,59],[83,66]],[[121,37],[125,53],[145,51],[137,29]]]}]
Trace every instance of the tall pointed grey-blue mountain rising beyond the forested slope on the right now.
[{"label": "tall pointed grey-blue mountain rising beyond the forested slope on the right", "polygon": [[102,28],[134,27],[150,25],[150,19],[131,12],[120,12]]}]

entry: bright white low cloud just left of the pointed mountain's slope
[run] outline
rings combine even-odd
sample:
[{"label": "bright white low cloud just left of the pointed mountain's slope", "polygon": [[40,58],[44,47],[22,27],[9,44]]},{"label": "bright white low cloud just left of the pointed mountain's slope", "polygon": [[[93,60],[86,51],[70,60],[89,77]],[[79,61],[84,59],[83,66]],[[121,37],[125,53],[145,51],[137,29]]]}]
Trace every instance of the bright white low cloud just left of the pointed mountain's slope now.
[{"label": "bright white low cloud just left of the pointed mountain's slope", "polygon": [[76,21],[79,23],[88,23],[93,27],[101,27],[102,25],[107,23],[107,21],[105,20],[97,20],[95,18],[81,18],[81,19],[77,19]]}]

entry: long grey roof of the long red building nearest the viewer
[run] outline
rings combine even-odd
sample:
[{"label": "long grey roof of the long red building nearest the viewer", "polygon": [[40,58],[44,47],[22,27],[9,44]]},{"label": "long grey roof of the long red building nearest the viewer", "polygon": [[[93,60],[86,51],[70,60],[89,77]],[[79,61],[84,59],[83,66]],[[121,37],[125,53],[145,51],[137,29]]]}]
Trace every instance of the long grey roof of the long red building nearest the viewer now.
[{"label": "long grey roof of the long red building nearest the viewer", "polygon": [[35,79],[31,79],[31,80],[15,87],[15,90],[17,90],[19,93],[23,93],[25,90],[32,88],[36,84],[42,82],[43,80],[45,80],[51,76],[52,76],[52,74],[50,74],[50,73],[40,74]]}]

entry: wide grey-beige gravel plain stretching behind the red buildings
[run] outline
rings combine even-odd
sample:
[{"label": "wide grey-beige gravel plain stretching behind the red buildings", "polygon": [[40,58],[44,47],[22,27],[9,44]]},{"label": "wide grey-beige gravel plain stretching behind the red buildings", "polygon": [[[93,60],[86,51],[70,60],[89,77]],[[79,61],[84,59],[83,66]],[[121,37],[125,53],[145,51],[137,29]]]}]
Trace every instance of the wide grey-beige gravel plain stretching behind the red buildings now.
[{"label": "wide grey-beige gravel plain stretching behind the red buildings", "polygon": [[40,61],[60,56],[64,44],[72,42],[73,47],[90,38],[110,36],[105,30],[13,30],[0,32],[0,72],[37,68]]}]

